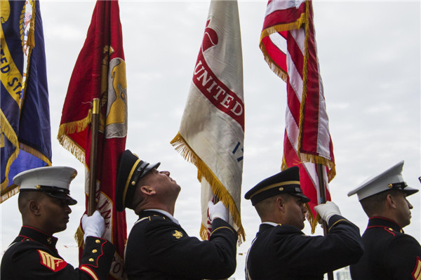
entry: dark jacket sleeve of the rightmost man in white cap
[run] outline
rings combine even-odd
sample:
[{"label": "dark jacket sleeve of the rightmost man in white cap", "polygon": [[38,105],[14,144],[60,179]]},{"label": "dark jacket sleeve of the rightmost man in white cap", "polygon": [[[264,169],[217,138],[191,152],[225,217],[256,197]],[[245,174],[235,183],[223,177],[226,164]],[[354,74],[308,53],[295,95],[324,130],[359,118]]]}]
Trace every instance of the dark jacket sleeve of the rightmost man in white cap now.
[{"label": "dark jacket sleeve of the rightmost man in white cap", "polygon": [[387,244],[385,269],[390,279],[414,280],[421,276],[421,246],[408,234],[399,234]]}]

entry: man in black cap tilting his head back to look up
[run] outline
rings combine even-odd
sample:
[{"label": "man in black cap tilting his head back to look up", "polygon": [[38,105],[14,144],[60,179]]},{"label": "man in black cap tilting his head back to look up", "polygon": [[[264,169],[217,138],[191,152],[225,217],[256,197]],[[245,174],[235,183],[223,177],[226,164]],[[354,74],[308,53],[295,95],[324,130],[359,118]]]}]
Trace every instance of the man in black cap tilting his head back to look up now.
[{"label": "man in black cap tilting his head back to look up", "polygon": [[236,268],[237,232],[226,221],[222,202],[211,204],[209,241],[187,235],[174,215],[180,186],[158,164],[126,150],[117,178],[117,210],[130,208],[139,219],[128,236],[125,265],[133,279],[226,279]]}]

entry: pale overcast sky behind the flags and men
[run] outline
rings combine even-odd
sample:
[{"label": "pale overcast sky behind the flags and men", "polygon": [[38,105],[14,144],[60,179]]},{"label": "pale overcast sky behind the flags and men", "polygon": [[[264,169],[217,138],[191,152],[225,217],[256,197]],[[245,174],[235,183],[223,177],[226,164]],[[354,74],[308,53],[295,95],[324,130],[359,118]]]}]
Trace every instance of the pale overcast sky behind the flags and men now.
[{"label": "pale overcast sky behind the flags and men", "polygon": [[[126,148],[171,171],[182,192],[175,218],[199,236],[200,184],[196,168],[175,151],[209,1],[120,1],[128,86]],[[267,66],[258,47],[267,1],[239,1],[246,128],[242,196],[280,171],[286,84]],[[83,166],[56,139],[69,78],[86,39],[94,1],[41,1],[51,109],[53,165],[72,166],[72,206],[67,231],[56,234],[62,257],[77,266],[73,235],[83,209]],[[337,175],[333,201],[361,234],[368,218],[347,193],[402,159],[403,178],[420,189],[420,2],[314,1],[316,43]],[[420,194],[405,232],[421,237]],[[236,279],[244,278],[246,251],[260,220],[242,199],[246,242],[238,248]],[[128,232],[136,216],[127,211]],[[21,225],[17,196],[1,204],[1,255]],[[304,229],[309,234],[309,223]],[[316,234],[322,234],[317,229]],[[66,247],[67,248],[66,248]]]}]

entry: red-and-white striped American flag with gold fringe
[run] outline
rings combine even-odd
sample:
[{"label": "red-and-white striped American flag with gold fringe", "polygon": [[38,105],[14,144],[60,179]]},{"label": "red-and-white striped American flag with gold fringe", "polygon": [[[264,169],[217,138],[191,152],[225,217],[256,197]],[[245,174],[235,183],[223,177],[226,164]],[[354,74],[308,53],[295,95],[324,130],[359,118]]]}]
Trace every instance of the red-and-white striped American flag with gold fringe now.
[{"label": "red-and-white striped American flag with gold fringe", "polygon": [[[323,189],[330,200],[328,182],[335,177],[335,159],[319,74],[312,1],[269,0],[260,48],[269,67],[286,81],[282,166],[300,167],[302,190],[311,199],[307,218],[314,232],[314,206],[321,202]],[[322,178],[317,164],[323,164]],[[319,179],[325,185],[321,191]]]}]

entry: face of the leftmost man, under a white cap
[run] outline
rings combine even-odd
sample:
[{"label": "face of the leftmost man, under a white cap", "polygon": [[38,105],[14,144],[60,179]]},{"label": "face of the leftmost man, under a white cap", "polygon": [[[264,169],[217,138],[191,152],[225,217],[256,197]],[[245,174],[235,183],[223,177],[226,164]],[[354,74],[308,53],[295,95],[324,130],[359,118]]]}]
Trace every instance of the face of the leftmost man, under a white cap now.
[{"label": "face of the leftmost man, under a white cap", "polygon": [[67,201],[45,195],[41,201],[41,230],[53,235],[67,228],[69,214],[72,213]]}]

